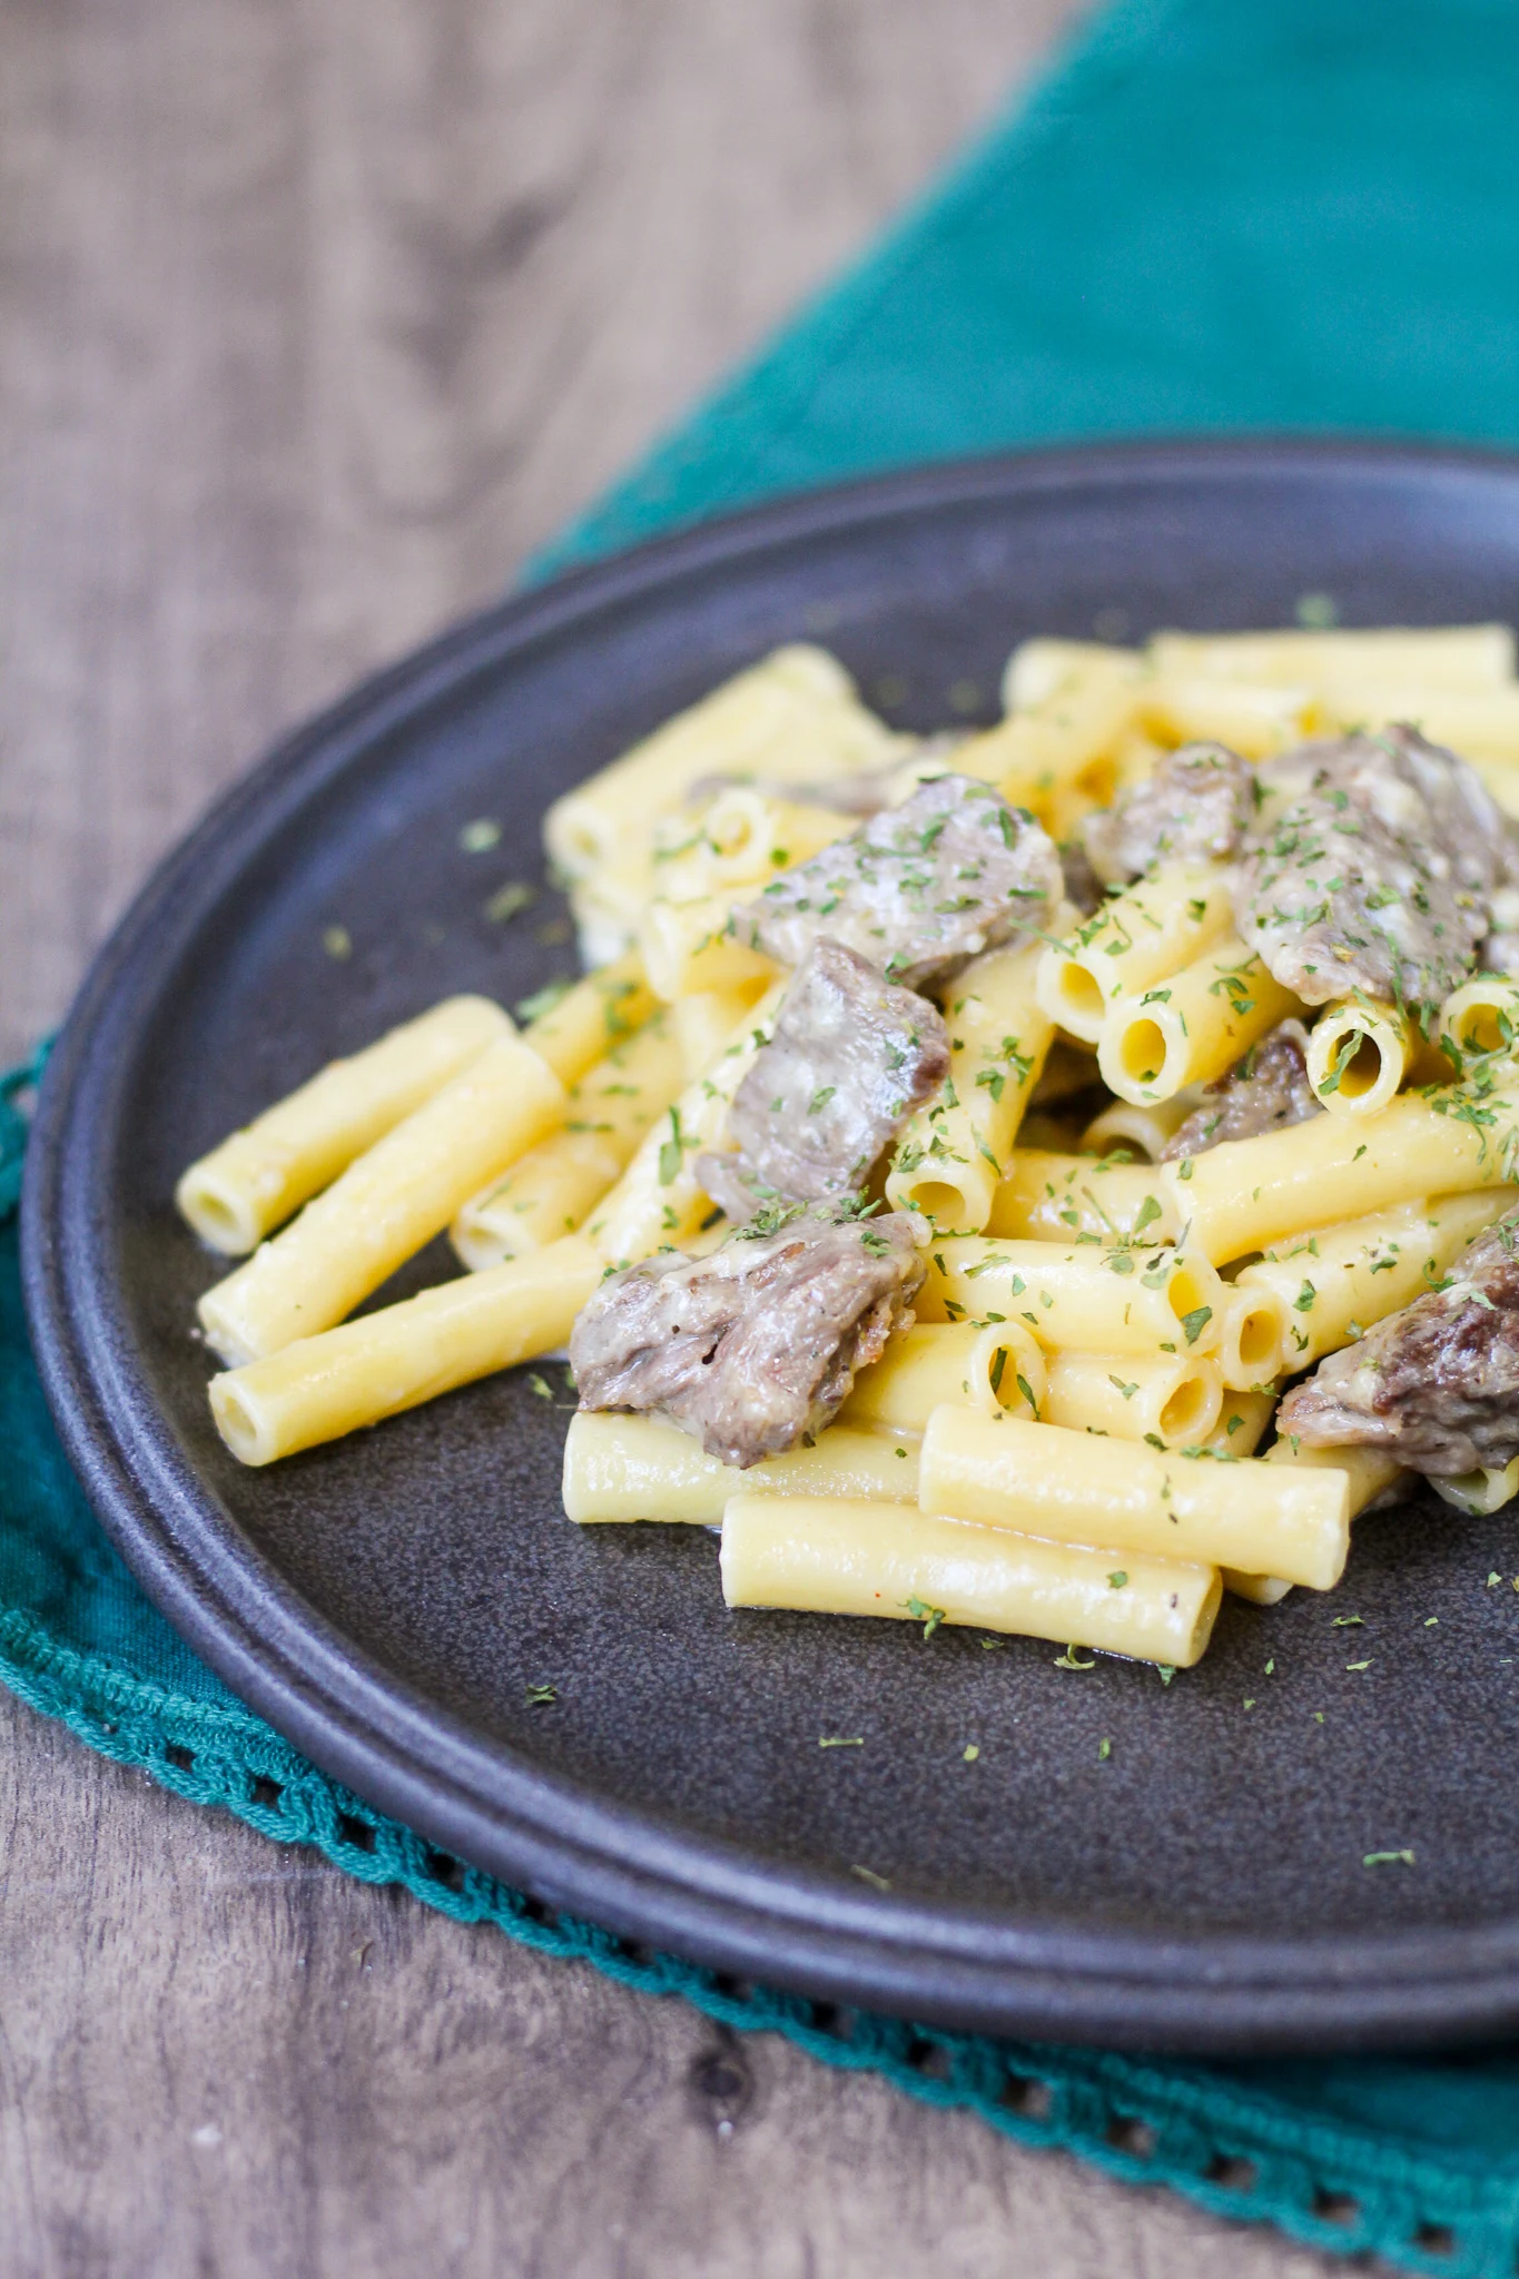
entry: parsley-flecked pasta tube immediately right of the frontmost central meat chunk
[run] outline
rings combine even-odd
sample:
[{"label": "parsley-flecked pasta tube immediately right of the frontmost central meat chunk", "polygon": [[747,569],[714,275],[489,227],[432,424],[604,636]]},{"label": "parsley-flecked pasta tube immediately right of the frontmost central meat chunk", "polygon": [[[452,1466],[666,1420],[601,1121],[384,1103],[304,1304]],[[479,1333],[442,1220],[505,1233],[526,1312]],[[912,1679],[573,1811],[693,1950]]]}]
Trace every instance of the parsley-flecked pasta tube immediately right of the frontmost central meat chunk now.
[{"label": "parsley-flecked pasta tube immediately right of the frontmost central meat chunk", "polygon": [[[1223,1283],[1196,1251],[1070,1249],[947,1235],[929,1249],[915,1299],[952,1322],[1013,1320],[1043,1347],[1077,1354],[1218,1351]],[[993,1313],[995,1308],[995,1313]]]}]

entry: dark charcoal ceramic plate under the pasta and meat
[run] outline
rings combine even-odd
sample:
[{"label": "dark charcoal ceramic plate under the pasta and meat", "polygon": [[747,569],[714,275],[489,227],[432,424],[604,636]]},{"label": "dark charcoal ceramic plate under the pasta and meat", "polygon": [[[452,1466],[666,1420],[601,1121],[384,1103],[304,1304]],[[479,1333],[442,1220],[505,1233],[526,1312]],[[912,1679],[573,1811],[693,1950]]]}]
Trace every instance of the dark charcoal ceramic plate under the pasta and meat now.
[{"label": "dark charcoal ceramic plate under the pasta and meat", "polygon": [[[549,893],[483,914],[540,875],[544,804],[772,643],[827,640],[934,727],[991,716],[1027,634],[1291,624],[1305,593],[1348,624],[1519,620],[1519,465],[1134,447],[783,501],[490,611],[214,809],[55,1053],[25,1267],[100,1518],[246,1700],[544,1903],[820,1999],[1191,2049],[1519,2021],[1508,1518],[1366,1522],[1335,1598],[1225,1604],[1166,1686],[1034,1641],[731,1616],[711,1534],[560,1516],[567,1404],[526,1370],[244,1472],[187,1333],[212,1267],[180,1167],[433,998],[565,971]],[[460,848],[478,816],[490,855]],[[1362,1864],[1382,1851],[1414,1864]]]}]

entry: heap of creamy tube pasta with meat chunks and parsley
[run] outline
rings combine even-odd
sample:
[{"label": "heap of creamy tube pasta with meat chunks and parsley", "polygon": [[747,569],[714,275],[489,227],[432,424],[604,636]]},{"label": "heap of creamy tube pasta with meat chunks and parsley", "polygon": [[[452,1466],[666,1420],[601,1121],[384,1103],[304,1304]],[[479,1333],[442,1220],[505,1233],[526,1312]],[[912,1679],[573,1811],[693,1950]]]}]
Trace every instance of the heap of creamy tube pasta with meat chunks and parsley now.
[{"label": "heap of creamy tube pasta with meat chunks and parsley", "polygon": [[[223,1251],[305,1203],[200,1304],[228,1447],[269,1463],[569,1338],[565,1511],[720,1527],[736,1609],[1182,1668],[1223,1586],[1332,1588],[1401,1443],[1309,1445],[1294,1379],[1323,1372],[1321,1415],[1405,1308],[1492,1306],[1471,1258],[1519,1203],[1519,893],[1483,791],[1519,809],[1512,636],[1034,640],[1004,695],[925,741],[795,645],[556,802],[599,969],[522,1037],[440,1005],[184,1176]],[[1339,775],[1278,766],[1337,734]],[[1439,768],[1476,820],[1430,866],[1407,811]],[[1305,832],[1337,871],[1296,912],[1280,864],[1330,868]],[[476,1272],[344,1322],[451,1215]],[[1499,1509],[1512,1447],[1437,1490]]]}]

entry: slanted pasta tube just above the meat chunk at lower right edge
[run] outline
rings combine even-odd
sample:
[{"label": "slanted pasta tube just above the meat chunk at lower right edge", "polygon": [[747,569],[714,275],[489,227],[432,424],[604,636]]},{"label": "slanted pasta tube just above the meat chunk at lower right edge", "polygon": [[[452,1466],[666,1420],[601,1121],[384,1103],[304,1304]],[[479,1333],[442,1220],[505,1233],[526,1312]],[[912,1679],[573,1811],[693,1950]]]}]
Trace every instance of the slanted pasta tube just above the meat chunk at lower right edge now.
[{"label": "slanted pasta tube just above the meat chunk at lower right edge", "polygon": [[1514,1201],[1514,1187],[1478,1187],[1373,1210],[1280,1244],[1241,1267],[1234,1290],[1275,1294],[1287,1324],[1282,1367],[1312,1370],[1421,1290],[1439,1288],[1446,1267]]}]

